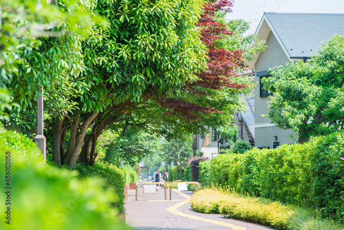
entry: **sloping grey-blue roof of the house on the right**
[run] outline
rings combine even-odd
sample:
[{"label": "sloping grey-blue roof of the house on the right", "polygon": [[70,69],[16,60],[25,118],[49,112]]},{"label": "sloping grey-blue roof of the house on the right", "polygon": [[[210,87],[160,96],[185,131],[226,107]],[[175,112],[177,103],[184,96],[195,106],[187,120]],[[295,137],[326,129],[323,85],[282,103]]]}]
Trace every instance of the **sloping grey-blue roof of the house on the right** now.
[{"label": "sloping grey-blue roof of the house on the right", "polygon": [[344,14],[264,13],[290,57],[312,56],[322,42],[344,34]]}]

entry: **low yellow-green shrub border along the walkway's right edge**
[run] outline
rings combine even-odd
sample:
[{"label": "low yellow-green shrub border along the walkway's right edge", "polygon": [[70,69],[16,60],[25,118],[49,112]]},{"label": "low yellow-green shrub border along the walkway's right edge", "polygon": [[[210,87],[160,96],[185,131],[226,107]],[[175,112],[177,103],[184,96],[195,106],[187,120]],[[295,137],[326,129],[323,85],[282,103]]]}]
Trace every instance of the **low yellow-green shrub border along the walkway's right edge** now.
[{"label": "low yellow-green shrub border along the walkway's right edge", "polygon": [[343,230],[344,225],[316,216],[310,209],[282,205],[266,198],[239,196],[233,191],[202,189],[191,198],[191,208],[202,213],[221,213],[230,218],[248,220],[290,230]]}]

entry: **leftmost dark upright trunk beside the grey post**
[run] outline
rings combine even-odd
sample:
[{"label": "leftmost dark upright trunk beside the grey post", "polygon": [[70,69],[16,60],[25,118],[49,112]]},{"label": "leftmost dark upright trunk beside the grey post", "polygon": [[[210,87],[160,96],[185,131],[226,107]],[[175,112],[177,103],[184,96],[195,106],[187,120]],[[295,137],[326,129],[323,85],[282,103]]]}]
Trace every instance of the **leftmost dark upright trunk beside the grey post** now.
[{"label": "leftmost dark upright trunk beside the grey post", "polygon": [[52,131],[52,161],[56,165],[61,165],[61,134],[63,118],[56,118],[54,122],[54,129]]}]

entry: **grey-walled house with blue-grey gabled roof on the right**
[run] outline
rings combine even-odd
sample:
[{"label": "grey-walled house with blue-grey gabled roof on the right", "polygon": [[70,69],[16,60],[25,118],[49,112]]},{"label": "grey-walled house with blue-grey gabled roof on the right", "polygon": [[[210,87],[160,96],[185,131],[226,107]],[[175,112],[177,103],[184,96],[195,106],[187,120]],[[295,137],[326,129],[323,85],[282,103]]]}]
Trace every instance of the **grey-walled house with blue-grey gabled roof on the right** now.
[{"label": "grey-walled house with blue-grey gabled roof on the right", "polygon": [[318,52],[321,44],[334,34],[344,34],[344,14],[264,13],[255,32],[265,40],[267,48],[250,62],[255,72],[255,147],[275,148],[293,144],[291,129],[283,130],[270,122],[268,101],[270,92],[263,89],[261,79],[269,76],[272,67],[285,66],[288,62],[307,61]]}]

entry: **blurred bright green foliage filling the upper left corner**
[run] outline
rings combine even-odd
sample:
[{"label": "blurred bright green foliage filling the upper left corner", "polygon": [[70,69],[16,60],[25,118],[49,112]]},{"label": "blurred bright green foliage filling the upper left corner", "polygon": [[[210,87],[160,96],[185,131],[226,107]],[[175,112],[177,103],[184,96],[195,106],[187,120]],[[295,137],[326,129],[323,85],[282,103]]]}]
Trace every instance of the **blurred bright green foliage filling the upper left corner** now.
[{"label": "blurred bright green foliage filling the upper left corner", "polygon": [[[69,41],[73,38],[69,34],[78,32],[85,35],[93,23],[105,22],[89,10],[92,1],[54,2],[0,1],[1,120],[8,119],[3,112],[11,111],[12,105],[20,105],[21,109],[28,107],[30,99],[37,96],[39,87],[45,85],[49,88],[54,78],[65,70],[65,63],[78,56],[73,52],[65,54],[65,50],[76,45],[76,39]],[[49,39],[51,37],[64,39],[54,41]],[[41,49],[42,46],[45,50]],[[26,59],[28,56],[31,56],[32,65]],[[25,81],[20,80],[23,72],[28,72]],[[13,103],[13,93],[17,104]]]}]

